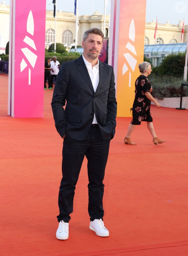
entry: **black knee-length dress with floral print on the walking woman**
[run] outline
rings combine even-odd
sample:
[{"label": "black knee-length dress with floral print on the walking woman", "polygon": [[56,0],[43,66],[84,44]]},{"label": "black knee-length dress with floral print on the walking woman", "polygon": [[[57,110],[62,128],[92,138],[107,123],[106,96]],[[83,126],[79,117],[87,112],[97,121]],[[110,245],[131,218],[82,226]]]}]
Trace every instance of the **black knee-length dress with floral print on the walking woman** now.
[{"label": "black knee-length dress with floral print on the walking woman", "polygon": [[140,125],[141,121],[153,122],[149,100],[145,93],[152,92],[152,86],[146,76],[140,75],[135,82],[135,100],[133,103],[133,120],[131,124]]}]

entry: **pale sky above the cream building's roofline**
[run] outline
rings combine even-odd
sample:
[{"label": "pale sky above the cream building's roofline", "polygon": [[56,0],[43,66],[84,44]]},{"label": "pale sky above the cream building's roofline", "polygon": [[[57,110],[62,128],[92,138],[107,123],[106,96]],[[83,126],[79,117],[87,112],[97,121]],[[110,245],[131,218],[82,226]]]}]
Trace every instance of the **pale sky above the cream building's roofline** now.
[{"label": "pale sky above the cream building's roofline", "polygon": [[[105,0],[77,1],[79,15],[92,15],[94,11],[104,14]],[[10,4],[10,0],[4,0],[4,2],[5,5]],[[46,0],[47,10],[53,10],[52,2],[53,0]],[[74,2],[75,0],[57,0],[57,10],[74,12]],[[110,12],[111,0],[107,0],[107,3],[106,15]],[[147,0],[146,22],[152,22],[153,19],[156,21],[156,17],[158,17],[158,23],[166,23],[169,21],[170,24],[178,25],[179,21],[184,19],[185,25],[188,25],[188,0]]]}]

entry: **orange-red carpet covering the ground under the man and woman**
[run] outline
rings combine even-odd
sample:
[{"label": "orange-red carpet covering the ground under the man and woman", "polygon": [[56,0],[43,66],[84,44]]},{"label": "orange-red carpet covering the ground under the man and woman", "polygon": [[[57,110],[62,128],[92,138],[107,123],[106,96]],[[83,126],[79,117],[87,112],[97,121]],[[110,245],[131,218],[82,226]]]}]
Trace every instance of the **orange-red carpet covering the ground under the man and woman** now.
[{"label": "orange-red carpet covering the ground under the man and woman", "polygon": [[[188,255],[188,110],[151,106],[157,135],[146,123],[125,145],[131,118],[117,118],[105,175],[104,223],[89,229],[87,162],[76,186],[69,238],[56,239],[62,139],[44,91],[44,118],[7,115],[8,76],[0,75],[0,255]],[[179,106],[177,106],[179,107]]]}]

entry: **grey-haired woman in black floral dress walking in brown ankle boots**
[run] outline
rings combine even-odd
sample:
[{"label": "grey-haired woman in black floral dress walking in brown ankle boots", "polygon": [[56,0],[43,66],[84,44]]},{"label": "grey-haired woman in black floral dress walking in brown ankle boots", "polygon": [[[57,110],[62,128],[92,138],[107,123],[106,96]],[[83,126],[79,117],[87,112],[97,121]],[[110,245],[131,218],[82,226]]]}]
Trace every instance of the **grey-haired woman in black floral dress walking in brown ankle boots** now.
[{"label": "grey-haired woman in black floral dress walking in brown ankle boots", "polygon": [[147,128],[153,137],[153,143],[158,145],[165,142],[160,140],[154,130],[153,119],[150,113],[151,101],[155,103],[157,108],[160,108],[159,102],[151,95],[152,87],[147,79],[147,76],[151,74],[151,64],[144,61],[138,65],[141,75],[135,82],[135,100],[133,103],[133,119],[129,124],[127,135],[124,138],[124,143],[129,145],[136,145],[131,141],[131,134],[136,125],[140,125],[141,121],[147,122]]}]

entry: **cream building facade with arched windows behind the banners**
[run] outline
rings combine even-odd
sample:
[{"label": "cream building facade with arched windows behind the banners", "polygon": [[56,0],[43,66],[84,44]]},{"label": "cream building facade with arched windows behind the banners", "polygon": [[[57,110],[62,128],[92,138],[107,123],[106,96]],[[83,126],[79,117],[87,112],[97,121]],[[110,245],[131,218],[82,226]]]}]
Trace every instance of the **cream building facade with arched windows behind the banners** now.
[{"label": "cream building facade with arched windows behind the banners", "polygon": [[[9,6],[0,4],[0,54],[5,54],[5,47],[9,41]],[[110,19],[109,15],[105,17],[105,37],[109,37]],[[93,15],[80,15],[79,16],[79,29],[77,37],[77,45],[82,45],[83,33],[93,27],[100,28],[103,31],[104,15],[94,12]],[[187,28],[184,26],[183,42],[181,41],[182,35],[182,20],[179,24],[173,25],[168,21],[166,24],[158,23],[158,30],[156,40],[154,39],[156,21],[146,22],[145,26],[145,45],[153,44],[176,44],[186,43]],[[56,14],[56,43],[62,43],[66,47],[71,48],[75,45],[76,39],[76,16],[73,12],[57,11]],[[46,33],[45,33],[45,46],[49,47],[55,40],[55,18],[53,11],[46,10]]]}]

